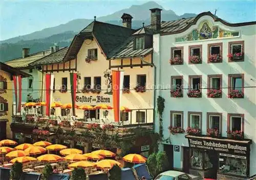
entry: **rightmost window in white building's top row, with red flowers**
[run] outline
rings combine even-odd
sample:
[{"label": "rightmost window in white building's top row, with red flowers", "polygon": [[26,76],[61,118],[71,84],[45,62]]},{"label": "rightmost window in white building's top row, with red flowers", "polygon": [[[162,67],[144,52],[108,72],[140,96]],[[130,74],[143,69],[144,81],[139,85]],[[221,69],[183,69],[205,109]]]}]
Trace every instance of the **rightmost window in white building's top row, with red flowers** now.
[{"label": "rightmost window in white building's top row, with red flowers", "polygon": [[233,58],[228,58],[228,62],[244,61],[244,41],[229,42],[228,54],[233,55]]}]

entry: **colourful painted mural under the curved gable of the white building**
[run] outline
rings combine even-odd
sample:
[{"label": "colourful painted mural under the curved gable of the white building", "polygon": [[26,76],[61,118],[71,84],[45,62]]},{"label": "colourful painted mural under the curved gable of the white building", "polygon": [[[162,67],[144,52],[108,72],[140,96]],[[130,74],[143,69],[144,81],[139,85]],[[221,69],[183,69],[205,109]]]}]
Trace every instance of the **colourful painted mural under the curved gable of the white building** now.
[{"label": "colourful painted mural under the curved gable of the white building", "polygon": [[192,30],[185,36],[175,38],[175,42],[219,39],[227,37],[239,37],[239,31],[224,30],[217,25],[212,25],[209,21],[202,21],[197,29]]}]

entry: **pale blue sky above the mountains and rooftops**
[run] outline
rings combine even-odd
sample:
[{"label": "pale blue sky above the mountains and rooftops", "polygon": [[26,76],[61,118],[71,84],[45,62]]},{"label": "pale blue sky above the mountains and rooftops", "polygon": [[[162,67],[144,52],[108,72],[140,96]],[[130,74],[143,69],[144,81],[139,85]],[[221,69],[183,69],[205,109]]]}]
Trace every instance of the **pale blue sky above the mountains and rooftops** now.
[{"label": "pale blue sky above the mountains and rooftops", "polygon": [[[140,0],[0,0],[0,40],[29,34],[67,23],[73,19],[93,19],[112,14]],[[199,14],[205,11],[232,22],[256,21],[256,0],[159,0],[165,10]]]}]

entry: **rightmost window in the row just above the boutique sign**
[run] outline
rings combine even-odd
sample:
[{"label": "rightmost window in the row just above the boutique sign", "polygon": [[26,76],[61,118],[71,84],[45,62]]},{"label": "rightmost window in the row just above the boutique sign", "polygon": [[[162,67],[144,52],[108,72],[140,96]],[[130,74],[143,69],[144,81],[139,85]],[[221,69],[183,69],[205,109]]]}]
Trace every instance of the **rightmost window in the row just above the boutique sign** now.
[{"label": "rightmost window in the row just above the boutique sign", "polygon": [[244,114],[228,114],[228,131],[244,132]]}]

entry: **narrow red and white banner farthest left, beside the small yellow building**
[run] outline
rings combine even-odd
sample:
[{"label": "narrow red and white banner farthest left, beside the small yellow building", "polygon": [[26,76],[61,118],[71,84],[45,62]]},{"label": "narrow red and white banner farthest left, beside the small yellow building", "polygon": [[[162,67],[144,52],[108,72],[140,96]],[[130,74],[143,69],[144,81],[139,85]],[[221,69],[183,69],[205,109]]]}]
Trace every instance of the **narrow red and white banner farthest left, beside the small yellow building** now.
[{"label": "narrow red and white banner farthest left, beside the small yellow building", "polygon": [[16,113],[20,113],[22,109],[22,76],[13,75],[12,78],[15,91]]}]

